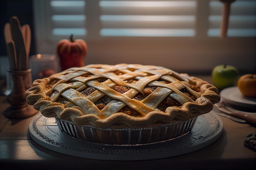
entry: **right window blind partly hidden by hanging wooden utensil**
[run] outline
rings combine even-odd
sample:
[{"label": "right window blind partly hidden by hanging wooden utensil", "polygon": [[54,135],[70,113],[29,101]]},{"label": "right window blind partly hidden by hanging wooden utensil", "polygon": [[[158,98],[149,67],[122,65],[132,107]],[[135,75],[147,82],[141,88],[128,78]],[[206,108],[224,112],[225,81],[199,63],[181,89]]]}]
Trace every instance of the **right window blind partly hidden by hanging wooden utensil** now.
[{"label": "right window blind partly hidden by hanging wooden utensil", "polygon": [[[220,36],[220,23],[222,20],[222,3],[211,0],[209,3],[209,29],[208,36]],[[231,4],[228,37],[255,37],[256,36],[256,1],[236,0]]]}]

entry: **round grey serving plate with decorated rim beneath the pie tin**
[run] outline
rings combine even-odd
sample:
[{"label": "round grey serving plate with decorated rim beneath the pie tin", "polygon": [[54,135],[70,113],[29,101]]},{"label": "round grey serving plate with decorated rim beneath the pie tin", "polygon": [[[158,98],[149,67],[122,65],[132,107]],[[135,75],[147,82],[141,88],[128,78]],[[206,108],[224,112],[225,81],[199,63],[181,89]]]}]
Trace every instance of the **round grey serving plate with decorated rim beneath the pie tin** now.
[{"label": "round grey serving plate with decorated rim beneath the pie tin", "polygon": [[141,146],[110,146],[75,139],[59,130],[54,118],[38,116],[29,124],[29,135],[49,150],[88,159],[132,161],[173,157],[213,144],[222,134],[221,119],[211,111],[200,115],[192,130],[171,141]]}]

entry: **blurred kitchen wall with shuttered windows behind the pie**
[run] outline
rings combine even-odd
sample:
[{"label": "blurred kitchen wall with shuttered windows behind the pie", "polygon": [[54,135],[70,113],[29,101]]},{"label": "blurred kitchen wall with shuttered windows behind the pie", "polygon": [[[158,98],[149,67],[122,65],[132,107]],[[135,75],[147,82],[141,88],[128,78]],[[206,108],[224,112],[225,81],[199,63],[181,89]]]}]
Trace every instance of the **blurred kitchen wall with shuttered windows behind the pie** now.
[{"label": "blurred kitchen wall with shuttered windows behind the pie", "polygon": [[210,74],[228,64],[256,73],[256,0],[231,4],[220,38],[219,0],[2,0],[0,73],[8,58],[4,24],[16,15],[31,27],[30,55],[56,54],[59,40],[83,39],[87,64],[159,65],[180,73]]}]

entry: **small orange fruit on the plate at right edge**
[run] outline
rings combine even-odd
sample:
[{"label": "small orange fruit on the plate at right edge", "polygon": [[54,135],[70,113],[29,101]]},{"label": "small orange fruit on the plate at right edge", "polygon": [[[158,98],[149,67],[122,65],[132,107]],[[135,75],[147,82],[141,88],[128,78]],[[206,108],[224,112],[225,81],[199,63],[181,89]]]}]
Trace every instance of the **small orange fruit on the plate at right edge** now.
[{"label": "small orange fruit on the plate at right edge", "polygon": [[238,79],[239,91],[245,97],[256,97],[256,74],[246,74]]}]

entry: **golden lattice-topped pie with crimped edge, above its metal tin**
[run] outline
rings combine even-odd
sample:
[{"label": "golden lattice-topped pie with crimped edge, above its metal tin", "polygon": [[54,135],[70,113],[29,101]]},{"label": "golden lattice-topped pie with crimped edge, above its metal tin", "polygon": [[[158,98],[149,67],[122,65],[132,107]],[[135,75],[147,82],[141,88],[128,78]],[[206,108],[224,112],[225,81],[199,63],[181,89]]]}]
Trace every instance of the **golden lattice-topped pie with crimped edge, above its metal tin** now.
[{"label": "golden lattice-topped pie with crimped edge, above its metal tin", "polygon": [[35,80],[26,95],[46,117],[99,128],[185,121],[220,101],[217,88],[202,79],[139,64],[70,68]]}]

